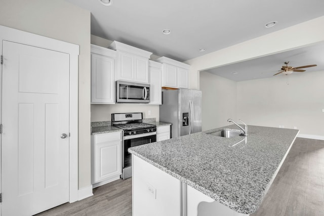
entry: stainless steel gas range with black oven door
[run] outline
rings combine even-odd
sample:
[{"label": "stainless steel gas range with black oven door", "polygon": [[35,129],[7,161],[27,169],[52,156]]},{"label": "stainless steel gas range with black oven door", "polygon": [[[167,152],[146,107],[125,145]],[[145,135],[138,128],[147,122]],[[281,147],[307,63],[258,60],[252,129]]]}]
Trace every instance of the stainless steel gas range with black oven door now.
[{"label": "stainless steel gas range with black oven door", "polygon": [[112,113],[111,125],[123,129],[122,179],[132,177],[132,154],[128,148],[156,142],[156,125],[143,123],[143,113]]}]

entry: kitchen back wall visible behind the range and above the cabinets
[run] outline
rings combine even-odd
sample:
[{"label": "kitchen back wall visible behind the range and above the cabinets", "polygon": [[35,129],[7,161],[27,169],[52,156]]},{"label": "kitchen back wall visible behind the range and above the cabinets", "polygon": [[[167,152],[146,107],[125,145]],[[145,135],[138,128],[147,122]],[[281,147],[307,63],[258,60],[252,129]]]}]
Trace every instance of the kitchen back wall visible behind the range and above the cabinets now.
[{"label": "kitchen back wall visible behind the range and above the cabinets", "polygon": [[[111,40],[91,35],[91,44],[107,48],[111,44]],[[153,58],[157,56],[152,55]],[[151,58],[152,58],[151,56]],[[151,114],[149,115],[149,111]],[[143,118],[156,118],[159,120],[159,105],[145,104],[92,104],[91,105],[91,122],[93,121],[110,121],[111,113],[124,112],[143,112]]]}]

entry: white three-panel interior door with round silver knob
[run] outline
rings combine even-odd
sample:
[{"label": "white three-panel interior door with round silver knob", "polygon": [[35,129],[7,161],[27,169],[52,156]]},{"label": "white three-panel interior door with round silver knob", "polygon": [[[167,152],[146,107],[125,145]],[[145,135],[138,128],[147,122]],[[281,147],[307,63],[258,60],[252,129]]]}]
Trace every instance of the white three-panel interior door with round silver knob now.
[{"label": "white three-panel interior door with round silver knob", "polygon": [[2,215],[32,215],[69,201],[69,55],[3,40],[3,56]]}]

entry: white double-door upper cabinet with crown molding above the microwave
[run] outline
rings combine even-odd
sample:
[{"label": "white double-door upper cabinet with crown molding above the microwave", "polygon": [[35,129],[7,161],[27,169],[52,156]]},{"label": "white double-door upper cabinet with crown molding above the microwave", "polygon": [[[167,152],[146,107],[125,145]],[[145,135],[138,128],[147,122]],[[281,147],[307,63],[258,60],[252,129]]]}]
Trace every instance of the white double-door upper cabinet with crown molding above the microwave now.
[{"label": "white double-door upper cabinet with crown molding above the microwave", "polygon": [[152,53],[118,41],[108,48],[117,51],[115,80],[149,83],[148,59]]}]

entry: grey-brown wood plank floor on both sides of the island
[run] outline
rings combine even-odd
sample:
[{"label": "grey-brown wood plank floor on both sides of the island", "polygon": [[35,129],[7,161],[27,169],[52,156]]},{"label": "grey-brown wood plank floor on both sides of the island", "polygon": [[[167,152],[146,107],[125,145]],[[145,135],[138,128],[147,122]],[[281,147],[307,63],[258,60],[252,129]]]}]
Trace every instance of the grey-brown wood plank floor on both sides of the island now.
[{"label": "grey-brown wood plank floor on both sides of the island", "polygon": [[[251,216],[324,215],[324,141],[297,138],[260,208]],[[93,190],[94,196],[65,203],[37,216],[132,215],[132,179]]]}]

